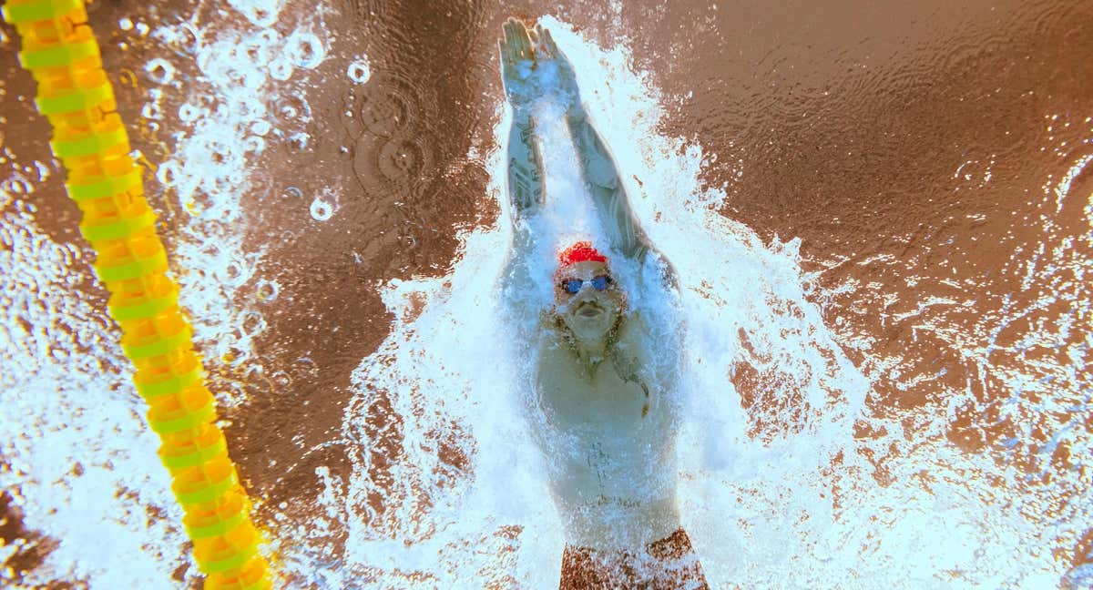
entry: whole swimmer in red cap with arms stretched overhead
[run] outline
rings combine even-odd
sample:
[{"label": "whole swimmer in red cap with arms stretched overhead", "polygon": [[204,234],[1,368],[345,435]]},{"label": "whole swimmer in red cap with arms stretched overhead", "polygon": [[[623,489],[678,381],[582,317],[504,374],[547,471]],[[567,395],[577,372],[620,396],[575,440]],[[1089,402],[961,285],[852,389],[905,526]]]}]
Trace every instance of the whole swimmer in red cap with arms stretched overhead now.
[{"label": "whole swimmer in red cap with arms stretched overhead", "polygon": [[519,222],[549,203],[534,108],[544,96],[564,108],[607,241],[589,236],[562,249],[553,302],[534,310],[541,319],[526,334],[534,352],[537,438],[566,538],[561,588],[707,588],[675,498],[678,333],[657,306],[627,303],[658,294],[623,287],[670,294],[673,271],[638,225],[614,160],[585,113],[572,63],[550,32],[516,20],[503,32],[502,79],[513,109],[508,194],[518,222],[506,273],[512,300],[537,291],[519,283],[531,281],[520,264],[543,236],[527,235],[531,225]]}]

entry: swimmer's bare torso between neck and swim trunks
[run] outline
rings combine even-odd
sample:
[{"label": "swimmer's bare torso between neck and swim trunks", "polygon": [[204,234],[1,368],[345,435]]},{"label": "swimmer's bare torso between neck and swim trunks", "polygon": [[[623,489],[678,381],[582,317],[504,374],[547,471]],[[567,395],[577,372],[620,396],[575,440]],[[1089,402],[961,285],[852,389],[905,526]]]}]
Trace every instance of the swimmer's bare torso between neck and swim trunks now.
[{"label": "swimmer's bare torso between neck and swim trunks", "polygon": [[571,545],[633,550],[679,528],[672,384],[650,370],[634,319],[590,369],[553,330],[539,346],[540,444]]}]

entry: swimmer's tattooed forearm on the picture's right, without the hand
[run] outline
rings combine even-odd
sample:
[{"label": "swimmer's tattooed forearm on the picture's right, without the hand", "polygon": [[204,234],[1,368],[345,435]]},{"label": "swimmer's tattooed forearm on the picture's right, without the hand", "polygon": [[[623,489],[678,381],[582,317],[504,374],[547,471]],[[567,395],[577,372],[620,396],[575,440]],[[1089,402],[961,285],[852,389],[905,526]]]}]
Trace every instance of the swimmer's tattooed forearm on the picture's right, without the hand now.
[{"label": "swimmer's tattooed forearm on the picture's right, without the hand", "polygon": [[624,256],[640,259],[649,250],[648,239],[631,208],[630,197],[611,152],[592,127],[583,106],[571,108],[566,114],[566,122],[596,212],[612,245]]}]

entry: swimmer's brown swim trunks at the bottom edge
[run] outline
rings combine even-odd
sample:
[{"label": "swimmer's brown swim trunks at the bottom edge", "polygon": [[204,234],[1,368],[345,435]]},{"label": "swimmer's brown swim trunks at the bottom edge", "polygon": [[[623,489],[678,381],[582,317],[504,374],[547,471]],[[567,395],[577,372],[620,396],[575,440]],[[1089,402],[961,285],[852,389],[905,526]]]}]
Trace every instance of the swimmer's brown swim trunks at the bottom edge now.
[{"label": "swimmer's brown swim trunks at the bottom edge", "polygon": [[708,590],[683,529],[646,545],[644,554],[566,545],[560,590],[642,588]]}]

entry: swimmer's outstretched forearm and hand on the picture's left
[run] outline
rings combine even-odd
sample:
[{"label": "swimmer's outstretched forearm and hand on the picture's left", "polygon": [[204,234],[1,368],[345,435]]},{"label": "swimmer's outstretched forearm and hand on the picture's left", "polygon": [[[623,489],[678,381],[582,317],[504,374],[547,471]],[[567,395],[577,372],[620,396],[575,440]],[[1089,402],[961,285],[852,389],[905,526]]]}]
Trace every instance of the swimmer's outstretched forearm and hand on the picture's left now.
[{"label": "swimmer's outstretched forearm and hand on the picture's left", "polygon": [[505,95],[513,106],[513,123],[508,130],[508,194],[516,219],[542,203],[543,168],[536,137],[531,102],[536,98],[531,83],[534,62],[534,33],[524,23],[509,20],[504,25],[501,49],[502,80]]}]

